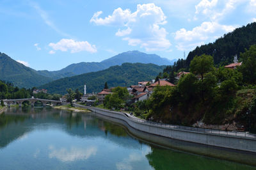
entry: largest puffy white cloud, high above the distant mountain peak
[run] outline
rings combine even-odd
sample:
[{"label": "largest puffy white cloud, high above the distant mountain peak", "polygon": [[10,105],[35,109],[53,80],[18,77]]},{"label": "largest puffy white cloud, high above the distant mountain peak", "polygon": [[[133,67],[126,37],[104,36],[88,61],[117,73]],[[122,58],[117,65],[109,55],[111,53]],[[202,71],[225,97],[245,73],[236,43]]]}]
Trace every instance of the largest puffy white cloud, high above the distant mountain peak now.
[{"label": "largest puffy white cloud, high above the distant mountain peak", "polygon": [[90,22],[101,26],[118,26],[116,36],[122,36],[128,45],[145,48],[147,51],[166,50],[171,46],[166,39],[168,32],[161,25],[166,24],[163,10],[153,3],[138,4],[136,12],[117,8],[112,15],[99,18],[102,12],[93,15]]}]

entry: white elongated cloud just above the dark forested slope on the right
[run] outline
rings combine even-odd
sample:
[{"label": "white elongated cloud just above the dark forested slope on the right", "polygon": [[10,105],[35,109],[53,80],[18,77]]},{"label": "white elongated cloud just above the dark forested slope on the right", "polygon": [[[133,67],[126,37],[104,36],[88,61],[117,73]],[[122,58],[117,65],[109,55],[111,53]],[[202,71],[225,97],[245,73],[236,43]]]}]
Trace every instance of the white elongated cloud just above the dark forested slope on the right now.
[{"label": "white elongated cloud just above the dark forested slope on the right", "polygon": [[179,41],[176,47],[179,50],[191,50],[205,42],[213,41],[234,29],[234,26],[225,26],[218,24],[218,22],[203,22],[191,31],[182,28],[175,33],[175,40]]}]

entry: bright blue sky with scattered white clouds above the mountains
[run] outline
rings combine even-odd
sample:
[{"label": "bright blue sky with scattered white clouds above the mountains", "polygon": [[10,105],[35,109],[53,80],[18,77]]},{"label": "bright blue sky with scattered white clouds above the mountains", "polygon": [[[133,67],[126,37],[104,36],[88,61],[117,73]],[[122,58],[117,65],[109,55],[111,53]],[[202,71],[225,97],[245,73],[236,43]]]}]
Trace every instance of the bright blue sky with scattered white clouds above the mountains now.
[{"label": "bright blue sky with scattered white clouds above the mountains", "polygon": [[0,52],[35,70],[128,50],[179,59],[256,22],[256,0],[1,0]]}]

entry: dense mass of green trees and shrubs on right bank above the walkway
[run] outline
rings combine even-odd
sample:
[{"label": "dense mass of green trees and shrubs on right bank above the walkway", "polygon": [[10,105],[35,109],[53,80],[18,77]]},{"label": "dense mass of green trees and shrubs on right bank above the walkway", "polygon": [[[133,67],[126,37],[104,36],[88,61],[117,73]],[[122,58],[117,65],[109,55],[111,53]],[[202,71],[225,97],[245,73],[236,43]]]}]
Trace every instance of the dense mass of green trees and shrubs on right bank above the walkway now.
[{"label": "dense mass of green trees and shrubs on right bank above the walkway", "polygon": [[237,123],[256,130],[256,45],[240,54],[237,69],[214,66],[209,55],[193,58],[189,72],[175,87],[157,87],[148,101],[140,104],[148,119],[192,125]]}]

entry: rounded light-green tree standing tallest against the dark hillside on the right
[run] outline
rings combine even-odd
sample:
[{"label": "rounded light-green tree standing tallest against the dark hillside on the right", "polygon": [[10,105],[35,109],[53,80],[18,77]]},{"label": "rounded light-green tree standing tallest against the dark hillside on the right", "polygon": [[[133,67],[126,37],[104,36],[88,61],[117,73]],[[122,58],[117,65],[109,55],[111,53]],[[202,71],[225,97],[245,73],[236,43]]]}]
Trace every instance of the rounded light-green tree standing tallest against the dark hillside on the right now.
[{"label": "rounded light-green tree standing tallest against the dark hillside on the right", "polygon": [[204,75],[207,72],[213,70],[213,58],[212,56],[203,54],[202,56],[195,56],[190,63],[190,72],[195,75],[199,74],[202,81],[204,81]]}]

